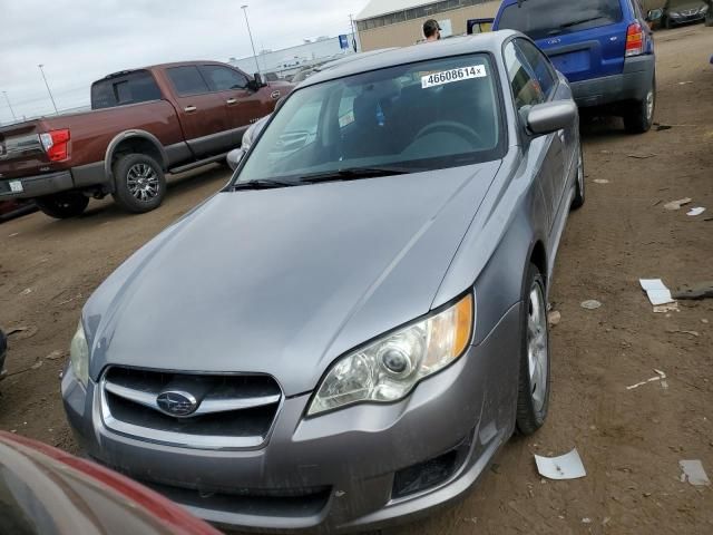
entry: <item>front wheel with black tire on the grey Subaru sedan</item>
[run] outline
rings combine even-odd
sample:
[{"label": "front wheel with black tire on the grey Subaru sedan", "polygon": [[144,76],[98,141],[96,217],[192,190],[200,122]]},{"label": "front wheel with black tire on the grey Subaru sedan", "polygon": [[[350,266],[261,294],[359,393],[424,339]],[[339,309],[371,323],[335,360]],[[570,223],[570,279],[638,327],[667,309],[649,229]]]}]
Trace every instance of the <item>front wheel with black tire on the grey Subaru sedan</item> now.
[{"label": "front wheel with black tire on the grey Subaru sedan", "polygon": [[[547,418],[547,409],[549,407],[549,327],[547,323],[547,302],[545,281],[539,270],[534,265],[528,265],[527,279],[525,285],[524,307],[521,317],[521,346],[520,346],[520,372],[518,378],[518,397],[517,397],[517,430],[520,435],[533,435],[537,431]],[[540,299],[539,303],[534,303],[531,299],[533,292],[537,292]],[[534,310],[539,309],[541,317],[537,320],[539,329],[537,332],[531,328]],[[536,343],[535,343],[536,342]],[[533,346],[534,343],[534,346]],[[530,373],[530,356],[529,350],[533,347],[541,347],[544,344],[545,361],[538,367],[537,377]],[[541,363],[541,360],[537,361]],[[543,369],[544,368],[544,369]],[[538,379],[539,378],[539,379]],[[537,393],[537,396],[536,396]]]}]

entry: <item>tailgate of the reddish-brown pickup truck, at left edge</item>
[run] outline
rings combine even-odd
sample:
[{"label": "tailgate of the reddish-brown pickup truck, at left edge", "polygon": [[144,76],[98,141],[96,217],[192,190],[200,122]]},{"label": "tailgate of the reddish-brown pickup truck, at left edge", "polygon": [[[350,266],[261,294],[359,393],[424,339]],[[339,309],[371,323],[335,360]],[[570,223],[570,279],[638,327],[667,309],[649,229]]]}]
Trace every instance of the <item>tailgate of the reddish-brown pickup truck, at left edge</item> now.
[{"label": "tailgate of the reddish-brown pickup truck, at left edge", "polygon": [[[0,181],[37,173],[49,165],[39,120],[0,128]],[[3,187],[0,182],[0,188]]]}]

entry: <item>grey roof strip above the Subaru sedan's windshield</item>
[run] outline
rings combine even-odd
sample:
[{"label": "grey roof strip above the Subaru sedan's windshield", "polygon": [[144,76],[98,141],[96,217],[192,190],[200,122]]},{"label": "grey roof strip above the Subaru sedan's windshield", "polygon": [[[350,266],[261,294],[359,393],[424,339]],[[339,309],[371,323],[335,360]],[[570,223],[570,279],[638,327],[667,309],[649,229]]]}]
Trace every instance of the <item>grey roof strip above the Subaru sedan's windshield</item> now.
[{"label": "grey roof strip above the Subaru sedan's windshield", "polygon": [[302,84],[302,87],[309,87],[322,81],[358,75],[360,72],[368,72],[370,70],[395,67],[398,65],[414,61],[427,61],[429,59],[439,59],[476,52],[497,54],[500,50],[502,42],[520,33],[514,30],[491,31],[487,33],[479,33],[477,36],[456,37],[437,42],[426,42],[404,48],[394,48],[383,50],[380,54],[365,54],[361,57],[355,57],[352,61],[335,65],[330,69],[325,69],[313,75]]}]

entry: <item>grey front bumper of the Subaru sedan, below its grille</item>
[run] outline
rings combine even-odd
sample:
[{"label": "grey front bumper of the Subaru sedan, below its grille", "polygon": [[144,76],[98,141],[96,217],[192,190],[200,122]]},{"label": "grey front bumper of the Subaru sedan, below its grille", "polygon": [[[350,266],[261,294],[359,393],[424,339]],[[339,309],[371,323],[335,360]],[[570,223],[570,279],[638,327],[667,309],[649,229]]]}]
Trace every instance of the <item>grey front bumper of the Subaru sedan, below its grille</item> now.
[{"label": "grey front bumper of the Subaru sedan, below its grille", "polygon": [[[141,441],[100,421],[98,389],[71,368],[68,419],[89,456],[196,516],[224,526],[334,533],[411,519],[468,492],[515,426],[520,305],[448,369],[392,405],[359,405],[303,419],[310,395],[286,398],[267,446],[199,450]],[[438,485],[394,498],[400,470],[458,451]],[[305,497],[307,496],[307,497]]]}]

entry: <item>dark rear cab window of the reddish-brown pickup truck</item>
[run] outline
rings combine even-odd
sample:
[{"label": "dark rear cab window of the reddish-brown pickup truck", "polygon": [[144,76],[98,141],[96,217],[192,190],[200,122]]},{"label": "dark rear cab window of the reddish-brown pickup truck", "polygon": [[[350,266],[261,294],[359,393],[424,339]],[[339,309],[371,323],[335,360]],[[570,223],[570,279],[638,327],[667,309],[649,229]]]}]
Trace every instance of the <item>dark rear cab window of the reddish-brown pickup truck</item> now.
[{"label": "dark rear cab window of the reddish-brown pickup truck", "polygon": [[160,89],[147,70],[95,81],[91,86],[91,109],[114,108],[160,98]]}]

